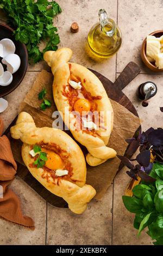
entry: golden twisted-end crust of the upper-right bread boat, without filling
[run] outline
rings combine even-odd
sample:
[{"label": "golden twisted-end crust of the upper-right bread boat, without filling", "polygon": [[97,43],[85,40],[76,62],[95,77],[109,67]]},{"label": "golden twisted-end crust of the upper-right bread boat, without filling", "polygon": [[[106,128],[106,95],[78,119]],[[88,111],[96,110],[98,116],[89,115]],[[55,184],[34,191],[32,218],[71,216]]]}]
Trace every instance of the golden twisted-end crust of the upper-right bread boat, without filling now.
[{"label": "golden twisted-end crust of the upper-right bread boat, without filling", "polygon": [[[48,51],[43,56],[48,65],[51,66],[54,75],[53,96],[55,105],[58,111],[62,113],[62,118],[66,126],[70,129],[73,137],[89,151],[86,156],[87,163],[90,164],[90,166],[97,166],[116,156],[114,149],[106,147],[113,128],[114,114],[111,102],[101,81],[84,66],[69,63],[68,60],[70,60],[71,57],[72,51],[70,48],[60,48],[56,52]],[[96,131],[96,136],[91,132],[86,133],[83,132],[83,130],[76,129],[76,117],[74,117],[74,114],[69,110],[70,104],[63,95],[64,87],[68,83],[68,80],[70,80],[71,74],[80,78],[86,91],[93,97],[101,96],[101,100],[97,99],[95,102],[97,104],[97,111],[99,113],[103,112],[104,119],[103,127],[99,127],[98,131]]]}]

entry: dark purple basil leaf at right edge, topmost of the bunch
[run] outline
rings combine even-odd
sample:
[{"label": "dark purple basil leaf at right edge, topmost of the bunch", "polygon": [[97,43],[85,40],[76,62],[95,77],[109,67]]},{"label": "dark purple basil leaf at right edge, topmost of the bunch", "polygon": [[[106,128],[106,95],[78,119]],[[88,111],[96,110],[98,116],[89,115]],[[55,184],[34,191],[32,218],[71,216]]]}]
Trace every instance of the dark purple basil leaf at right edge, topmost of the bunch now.
[{"label": "dark purple basil leaf at right edge, topmost of the bunch", "polygon": [[149,133],[148,142],[155,147],[163,144],[163,129],[159,128]]}]

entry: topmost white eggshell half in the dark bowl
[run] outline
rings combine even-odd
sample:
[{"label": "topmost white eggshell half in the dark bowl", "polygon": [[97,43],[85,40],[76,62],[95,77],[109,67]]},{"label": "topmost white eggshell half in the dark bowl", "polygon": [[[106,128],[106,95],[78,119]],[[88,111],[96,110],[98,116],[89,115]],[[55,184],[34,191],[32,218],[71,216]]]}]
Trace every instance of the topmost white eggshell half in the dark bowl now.
[{"label": "topmost white eggshell half in the dark bowl", "polygon": [[14,45],[14,42],[12,42],[12,40],[8,38],[4,38],[0,41],[0,56],[2,58],[14,52],[15,52],[15,45]]}]

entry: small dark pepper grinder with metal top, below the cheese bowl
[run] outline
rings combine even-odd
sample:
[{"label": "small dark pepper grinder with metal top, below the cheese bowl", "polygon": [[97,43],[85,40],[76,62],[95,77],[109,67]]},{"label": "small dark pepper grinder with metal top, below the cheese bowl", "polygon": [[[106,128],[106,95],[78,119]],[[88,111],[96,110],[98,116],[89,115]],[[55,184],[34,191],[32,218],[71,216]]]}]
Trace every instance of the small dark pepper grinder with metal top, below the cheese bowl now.
[{"label": "small dark pepper grinder with metal top, below the cheese bowl", "polygon": [[142,106],[147,107],[148,106],[148,99],[156,95],[158,91],[158,88],[156,87],[156,84],[148,81],[145,83],[140,84],[139,86],[139,99],[142,101]]}]

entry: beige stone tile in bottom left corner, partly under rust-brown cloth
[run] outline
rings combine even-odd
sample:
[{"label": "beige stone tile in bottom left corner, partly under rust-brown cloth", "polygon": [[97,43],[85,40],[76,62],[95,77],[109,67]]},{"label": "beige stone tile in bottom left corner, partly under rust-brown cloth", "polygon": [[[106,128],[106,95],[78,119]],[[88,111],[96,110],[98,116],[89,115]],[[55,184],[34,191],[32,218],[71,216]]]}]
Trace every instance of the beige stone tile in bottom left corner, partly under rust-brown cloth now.
[{"label": "beige stone tile in bottom left corner, partly under rust-brown cloth", "polygon": [[20,197],[23,213],[33,218],[35,230],[0,218],[0,245],[44,245],[46,234],[46,202],[20,178],[15,178],[11,189]]}]

